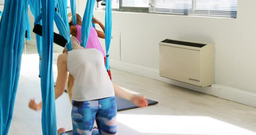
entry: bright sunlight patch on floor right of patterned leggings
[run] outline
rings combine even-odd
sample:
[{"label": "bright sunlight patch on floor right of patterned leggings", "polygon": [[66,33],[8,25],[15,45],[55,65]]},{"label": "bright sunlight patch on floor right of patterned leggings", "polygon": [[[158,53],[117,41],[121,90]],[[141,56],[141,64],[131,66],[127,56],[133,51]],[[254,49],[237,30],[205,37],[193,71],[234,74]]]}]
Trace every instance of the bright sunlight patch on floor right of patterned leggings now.
[{"label": "bright sunlight patch on floor right of patterned leggings", "polygon": [[204,116],[118,114],[118,122],[141,133],[175,135],[256,135],[255,132]]}]

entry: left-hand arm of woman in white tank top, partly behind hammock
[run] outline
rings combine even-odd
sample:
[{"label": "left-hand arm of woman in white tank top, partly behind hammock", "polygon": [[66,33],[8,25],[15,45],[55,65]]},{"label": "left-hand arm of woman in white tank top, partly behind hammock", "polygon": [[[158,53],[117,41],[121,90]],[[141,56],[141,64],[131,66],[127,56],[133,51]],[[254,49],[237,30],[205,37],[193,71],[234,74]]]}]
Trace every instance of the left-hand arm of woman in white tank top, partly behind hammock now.
[{"label": "left-hand arm of woman in white tank top, partly behind hammock", "polygon": [[[59,98],[64,93],[67,77],[68,77],[68,71],[67,71],[67,65],[66,65],[66,59],[67,54],[59,55],[57,60],[57,68],[58,68],[58,76],[55,84],[55,100]],[[40,110],[42,109],[43,103],[40,102],[37,104],[34,99],[30,100],[29,108],[34,110]]]}]

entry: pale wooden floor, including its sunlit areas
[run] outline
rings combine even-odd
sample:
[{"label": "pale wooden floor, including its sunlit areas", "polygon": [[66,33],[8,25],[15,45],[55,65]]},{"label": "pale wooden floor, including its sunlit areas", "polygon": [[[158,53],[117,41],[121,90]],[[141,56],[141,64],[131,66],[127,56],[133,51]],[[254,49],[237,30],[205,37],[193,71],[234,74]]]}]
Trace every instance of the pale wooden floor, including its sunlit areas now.
[{"label": "pale wooden floor, including its sunlit areas", "polygon": [[[56,63],[56,61],[54,62]],[[54,64],[56,77],[56,64]],[[256,108],[111,69],[113,82],[159,103],[118,112],[118,135],[256,135]],[[56,78],[55,78],[56,79]],[[41,100],[38,57],[23,55],[9,135],[41,135],[41,112],[27,107]],[[56,100],[57,127],[72,129],[65,93]]]}]

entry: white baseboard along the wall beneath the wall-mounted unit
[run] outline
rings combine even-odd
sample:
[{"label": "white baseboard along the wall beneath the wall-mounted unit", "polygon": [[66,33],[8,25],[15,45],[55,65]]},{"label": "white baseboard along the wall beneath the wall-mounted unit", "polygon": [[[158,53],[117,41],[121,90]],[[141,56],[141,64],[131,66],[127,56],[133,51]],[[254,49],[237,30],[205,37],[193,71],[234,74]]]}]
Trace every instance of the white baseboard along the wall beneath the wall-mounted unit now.
[{"label": "white baseboard along the wall beneath the wall-mounted unit", "polygon": [[115,68],[121,71],[126,71],[132,74],[138,74],[140,76],[148,77],[154,80],[160,80],[168,84],[177,85],[190,90],[199,91],[201,93],[206,93],[226,100],[256,107],[256,93],[247,90],[236,89],[233,87],[228,87],[220,84],[213,84],[211,87],[198,87],[195,85],[186,84],[176,80],[160,77],[158,69],[122,61],[110,60],[110,66],[111,68]]}]

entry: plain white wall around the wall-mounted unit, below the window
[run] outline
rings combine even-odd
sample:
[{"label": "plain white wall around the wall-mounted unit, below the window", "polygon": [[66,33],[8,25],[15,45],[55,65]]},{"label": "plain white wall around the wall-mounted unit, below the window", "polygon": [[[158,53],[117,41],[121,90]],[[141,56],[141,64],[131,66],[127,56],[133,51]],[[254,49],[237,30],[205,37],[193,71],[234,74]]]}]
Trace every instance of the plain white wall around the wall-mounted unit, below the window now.
[{"label": "plain white wall around the wall-mounted unit, below the window", "polygon": [[[239,0],[236,19],[114,12],[113,29],[121,34],[121,61],[158,69],[158,43],[163,39],[213,43],[215,83],[256,92],[254,5],[255,0]],[[105,12],[95,11],[94,16],[105,20]]]}]

